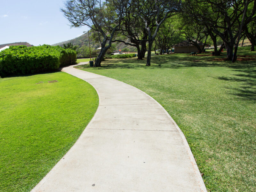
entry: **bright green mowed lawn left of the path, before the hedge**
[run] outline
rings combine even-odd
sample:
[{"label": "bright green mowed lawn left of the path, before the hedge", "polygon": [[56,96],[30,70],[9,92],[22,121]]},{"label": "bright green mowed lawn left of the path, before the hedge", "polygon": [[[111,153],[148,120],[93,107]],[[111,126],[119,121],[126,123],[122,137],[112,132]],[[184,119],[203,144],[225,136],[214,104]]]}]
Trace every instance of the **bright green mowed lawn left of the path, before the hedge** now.
[{"label": "bright green mowed lawn left of the path, before the hedge", "polygon": [[56,72],[0,79],[0,103],[0,191],[20,192],[30,191],[75,143],[98,95],[85,81]]}]

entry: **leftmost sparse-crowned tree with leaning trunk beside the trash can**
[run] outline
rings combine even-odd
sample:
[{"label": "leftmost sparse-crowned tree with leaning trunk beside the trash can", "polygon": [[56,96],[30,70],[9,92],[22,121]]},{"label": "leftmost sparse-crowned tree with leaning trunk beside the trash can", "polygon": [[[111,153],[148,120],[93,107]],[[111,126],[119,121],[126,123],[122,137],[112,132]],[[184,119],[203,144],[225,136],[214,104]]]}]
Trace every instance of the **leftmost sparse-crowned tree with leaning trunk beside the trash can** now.
[{"label": "leftmost sparse-crowned tree with leaning trunk beside the trash can", "polygon": [[[112,45],[112,39],[120,29],[123,19],[125,0],[68,0],[64,16],[71,27],[88,26],[98,34],[101,44],[100,53],[94,67],[100,67],[105,53]],[[102,38],[101,38],[102,37]]]}]

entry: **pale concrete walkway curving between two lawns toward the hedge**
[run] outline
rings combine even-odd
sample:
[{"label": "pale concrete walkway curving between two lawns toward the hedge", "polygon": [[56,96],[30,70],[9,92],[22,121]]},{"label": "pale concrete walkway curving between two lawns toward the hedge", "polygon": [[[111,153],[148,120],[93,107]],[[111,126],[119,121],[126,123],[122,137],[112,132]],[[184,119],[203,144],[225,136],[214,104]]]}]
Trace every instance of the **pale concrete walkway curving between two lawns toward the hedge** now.
[{"label": "pale concrete walkway curving between two lawns toward the hedge", "polygon": [[92,84],[99,107],[32,192],[206,191],[187,140],[156,100],[131,85],[73,67],[61,71]]}]

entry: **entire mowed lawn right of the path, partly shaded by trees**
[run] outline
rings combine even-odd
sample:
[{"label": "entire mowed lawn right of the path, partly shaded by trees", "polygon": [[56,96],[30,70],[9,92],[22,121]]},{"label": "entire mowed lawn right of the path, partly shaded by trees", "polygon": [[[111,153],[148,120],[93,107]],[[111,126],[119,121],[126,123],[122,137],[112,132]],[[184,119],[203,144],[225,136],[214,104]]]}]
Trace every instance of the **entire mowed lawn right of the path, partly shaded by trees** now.
[{"label": "entire mowed lawn right of the path, partly shaded by trees", "polygon": [[156,99],[185,134],[208,191],[249,192],[256,191],[256,52],[249,50],[240,48],[236,63],[188,53],[152,56],[150,67],[131,58],[78,68]]}]

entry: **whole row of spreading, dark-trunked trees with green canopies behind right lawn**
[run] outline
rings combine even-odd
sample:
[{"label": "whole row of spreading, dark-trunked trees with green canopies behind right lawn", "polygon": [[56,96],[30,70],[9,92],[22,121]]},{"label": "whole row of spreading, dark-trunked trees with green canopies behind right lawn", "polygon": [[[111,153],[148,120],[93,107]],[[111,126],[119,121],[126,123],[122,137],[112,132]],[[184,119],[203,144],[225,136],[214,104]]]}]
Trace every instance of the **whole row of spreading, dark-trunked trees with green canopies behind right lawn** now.
[{"label": "whole row of spreading, dark-trunked trees with green canopies behind right lawn", "polygon": [[73,27],[90,27],[100,42],[94,67],[100,66],[113,42],[136,47],[140,60],[148,51],[147,66],[152,50],[162,53],[182,39],[199,52],[204,47],[198,42],[205,45],[211,39],[215,55],[226,48],[232,62],[241,38],[250,40],[251,51],[256,45],[255,0],[68,0],[61,11]]}]

